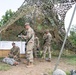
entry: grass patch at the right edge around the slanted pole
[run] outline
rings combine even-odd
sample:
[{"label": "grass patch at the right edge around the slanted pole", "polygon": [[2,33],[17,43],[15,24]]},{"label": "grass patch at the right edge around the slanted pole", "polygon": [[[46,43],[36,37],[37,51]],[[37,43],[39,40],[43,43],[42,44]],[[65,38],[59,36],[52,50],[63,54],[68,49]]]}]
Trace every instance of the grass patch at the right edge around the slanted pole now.
[{"label": "grass patch at the right edge around the slanted pole", "polygon": [[[55,51],[55,53],[53,53],[53,56],[59,56],[58,55],[59,51]],[[63,52],[62,59],[66,60],[67,64],[69,65],[76,65],[76,54],[72,53],[72,51],[69,52]]]}]

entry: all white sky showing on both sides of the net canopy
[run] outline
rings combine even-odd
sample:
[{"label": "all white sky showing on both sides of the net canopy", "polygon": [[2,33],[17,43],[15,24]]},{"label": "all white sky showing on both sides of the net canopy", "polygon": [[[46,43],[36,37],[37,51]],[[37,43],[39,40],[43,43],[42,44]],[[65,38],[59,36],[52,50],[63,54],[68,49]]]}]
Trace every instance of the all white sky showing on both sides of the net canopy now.
[{"label": "all white sky showing on both sides of the net canopy", "polygon": [[[24,2],[24,0],[0,0],[0,20],[1,17],[5,14],[5,12],[9,9],[11,9],[12,11],[16,11],[21,4]],[[71,15],[74,9],[74,5],[73,7],[67,12],[66,17],[65,17],[65,29],[67,30],[68,26],[69,26],[69,22],[71,19]],[[72,25],[76,25],[76,13],[74,15],[74,19],[72,22]]]}]

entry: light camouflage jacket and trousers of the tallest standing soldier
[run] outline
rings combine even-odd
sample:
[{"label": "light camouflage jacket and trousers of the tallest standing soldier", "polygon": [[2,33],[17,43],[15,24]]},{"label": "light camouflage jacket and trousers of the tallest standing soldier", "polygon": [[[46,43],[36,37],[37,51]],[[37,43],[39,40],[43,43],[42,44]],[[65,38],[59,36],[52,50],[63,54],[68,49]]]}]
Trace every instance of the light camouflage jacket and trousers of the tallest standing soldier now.
[{"label": "light camouflage jacket and trousers of the tallest standing soldier", "polygon": [[26,36],[24,36],[24,39],[26,39],[26,42],[28,41],[26,45],[26,58],[27,62],[33,63],[33,48],[34,48],[34,30],[30,27],[27,31]]}]

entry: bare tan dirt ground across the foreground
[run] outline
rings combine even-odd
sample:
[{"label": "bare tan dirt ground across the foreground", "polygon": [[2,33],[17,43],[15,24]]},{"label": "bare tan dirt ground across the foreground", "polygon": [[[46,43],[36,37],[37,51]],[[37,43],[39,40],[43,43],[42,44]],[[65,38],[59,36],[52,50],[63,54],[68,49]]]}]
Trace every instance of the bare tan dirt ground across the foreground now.
[{"label": "bare tan dirt ground across the foreground", "polygon": [[[52,58],[51,62],[42,61],[42,59],[35,59],[34,66],[27,68],[23,61],[17,66],[12,66],[8,71],[0,71],[0,75],[42,75],[43,73],[53,71],[57,58]],[[61,59],[58,68],[64,71],[76,69],[76,65],[69,65],[66,60]]]}]

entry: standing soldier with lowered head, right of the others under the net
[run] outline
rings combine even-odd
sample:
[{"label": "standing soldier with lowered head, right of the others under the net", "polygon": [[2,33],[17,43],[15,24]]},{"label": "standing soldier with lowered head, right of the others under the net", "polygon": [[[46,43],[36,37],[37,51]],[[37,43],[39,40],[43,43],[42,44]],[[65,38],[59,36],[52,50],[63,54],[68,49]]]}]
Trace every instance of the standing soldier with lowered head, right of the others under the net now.
[{"label": "standing soldier with lowered head, right of the others under the net", "polygon": [[45,34],[43,36],[43,40],[44,40],[44,43],[43,43],[44,44],[43,58],[46,59],[46,53],[48,51],[48,54],[49,54],[48,61],[51,61],[50,47],[51,47],[52,35],[49,33],[49,30],[45,31]]}]

